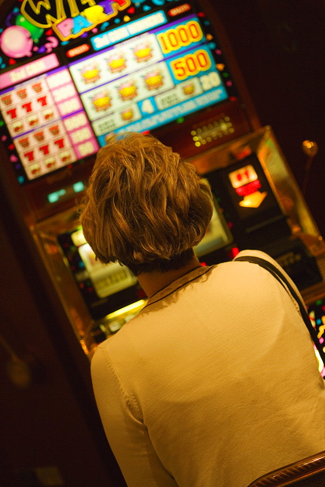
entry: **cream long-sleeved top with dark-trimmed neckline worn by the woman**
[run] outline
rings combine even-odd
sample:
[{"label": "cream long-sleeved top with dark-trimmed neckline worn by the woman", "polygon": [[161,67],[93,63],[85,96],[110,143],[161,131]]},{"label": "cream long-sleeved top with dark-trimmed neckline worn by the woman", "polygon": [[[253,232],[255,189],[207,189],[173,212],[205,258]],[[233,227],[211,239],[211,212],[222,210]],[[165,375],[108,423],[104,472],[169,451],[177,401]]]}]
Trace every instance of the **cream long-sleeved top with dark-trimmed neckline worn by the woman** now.
[{"label": "cream long-sleeved top with dark-trimmed neckline worn by the woman", "polygon": [[128,487],[247,487],[325,450],[324,379],[297,309],[267,270],[224,262],[98,346],[94,393]]}]

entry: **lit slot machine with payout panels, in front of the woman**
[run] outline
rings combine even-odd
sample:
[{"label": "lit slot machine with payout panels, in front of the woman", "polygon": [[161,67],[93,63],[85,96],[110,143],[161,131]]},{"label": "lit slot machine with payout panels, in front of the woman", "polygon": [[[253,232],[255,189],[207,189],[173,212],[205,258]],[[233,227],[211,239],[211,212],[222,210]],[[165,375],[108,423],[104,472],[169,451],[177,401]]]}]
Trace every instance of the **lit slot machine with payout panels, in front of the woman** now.
[{"label": "lit slot machine with payout panels, in front of the woman", "polygon": [[211,185],[202,262],[266,250],[307,303],[323,299],[324,242],[271,128],[260,126],[212,2],[23,0],[2,9],[6,173],[80,353],[91,356],[146,299],[126,267],[95,260],[77,223],[96,152],[125,131],[157,136]]}]

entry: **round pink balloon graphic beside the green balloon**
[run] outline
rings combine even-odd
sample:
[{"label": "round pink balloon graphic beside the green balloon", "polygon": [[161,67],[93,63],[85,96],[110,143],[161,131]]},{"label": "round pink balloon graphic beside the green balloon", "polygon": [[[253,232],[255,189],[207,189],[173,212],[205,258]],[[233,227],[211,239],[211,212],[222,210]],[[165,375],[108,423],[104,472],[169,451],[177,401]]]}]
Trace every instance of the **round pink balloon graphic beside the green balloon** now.
[{"label": "round pink balloon graphic beside the green balloon", "polygon": [[0,48],[9,57],[30,56],[33,48],[31,33],[20,25],[12,25],[2,32]]}]

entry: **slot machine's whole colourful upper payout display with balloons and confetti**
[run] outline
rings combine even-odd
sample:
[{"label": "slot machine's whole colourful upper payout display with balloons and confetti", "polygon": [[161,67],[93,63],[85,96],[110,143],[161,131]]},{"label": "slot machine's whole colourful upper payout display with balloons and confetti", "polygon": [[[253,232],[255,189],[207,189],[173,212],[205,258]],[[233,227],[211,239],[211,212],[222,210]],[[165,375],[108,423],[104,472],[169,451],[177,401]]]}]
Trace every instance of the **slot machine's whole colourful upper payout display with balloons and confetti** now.
[{"label": "slot machine's whole colourful upper payout display with balloons and confetti", "polygon": [[[0,136],[20,184],[84,162],[114,133],[175,132],[237,99],[210,21],[192,1],[23,0],[3,19]],[[215,139],[232,137],[229,117],[222,124]]]}]

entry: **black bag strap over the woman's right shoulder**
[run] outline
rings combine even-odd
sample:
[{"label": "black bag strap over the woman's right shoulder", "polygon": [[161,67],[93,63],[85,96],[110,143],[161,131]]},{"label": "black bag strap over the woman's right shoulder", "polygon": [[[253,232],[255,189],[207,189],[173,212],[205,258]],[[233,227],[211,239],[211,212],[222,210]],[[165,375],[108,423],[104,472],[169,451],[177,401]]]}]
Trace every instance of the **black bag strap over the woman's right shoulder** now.
[{"label": "black bag strap over the woman's right shoulder", "polygon": [[[293,287],[289,283],[288,279],[282,274],[282,272],[277,267],[275,267],[275,265],[271,264],[271,262],[268,262],[264,259],[261,259],[260,257],[240,256],[240,257],[236,257],[234,259],[234,261],[247,261],[247,262],[251,262],[252,264],[260,265],[264,269],[268,270],[272,274],[272,276],[277,281],[280,282],[280,284],[284,287],[284,289],[287,292],[289,289],[291,296],[297,301],[297,303],[299,305],[300,314],[303,317],[303,320],[305,321],[305,324],[306,324],[307,329],[310,333],[311,339],[313,340],[313,342],[314,342],[314,344],[315,344],[315,346],[319,352],[319,355],[321,356],[321,358],[325,364],[325,352],[323,352],[323,347],[317,338],[317,332],[310,322],[310,319],[308,317],[305,306],[303,305],[303,303],[301,302],[301,299],[298,297],[297,293],[295,292],[295,290],[293,289]],[[286,288],[285,284],[286,284],[288,289]]]}]

